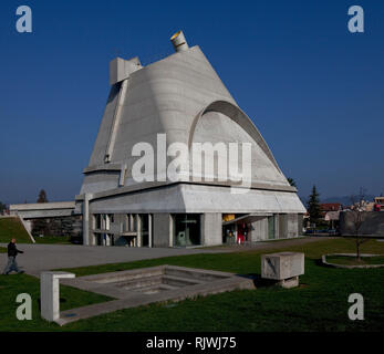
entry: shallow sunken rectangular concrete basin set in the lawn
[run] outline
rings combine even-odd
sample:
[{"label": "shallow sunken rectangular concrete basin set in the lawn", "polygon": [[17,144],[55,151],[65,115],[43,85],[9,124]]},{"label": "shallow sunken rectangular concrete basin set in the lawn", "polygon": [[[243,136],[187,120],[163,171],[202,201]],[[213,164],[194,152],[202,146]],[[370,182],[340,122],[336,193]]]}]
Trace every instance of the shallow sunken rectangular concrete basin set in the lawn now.
[{"label": "shallow sunken rectangular concrete basin set in the lawn", "polygon": [[194,268],[159,266],[63,280],[63,284],[116,300],[61,312],[60,325],[95,315],[147,305],[180,301],[236,289],[255,289],[249,278]]}]

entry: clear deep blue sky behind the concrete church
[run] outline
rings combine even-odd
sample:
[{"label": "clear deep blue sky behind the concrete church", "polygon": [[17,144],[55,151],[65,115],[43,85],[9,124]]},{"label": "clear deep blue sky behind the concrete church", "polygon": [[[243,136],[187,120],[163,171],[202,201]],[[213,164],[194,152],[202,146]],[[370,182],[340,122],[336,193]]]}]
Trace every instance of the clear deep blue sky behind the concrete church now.
[{"label": "clear deep blue sky behind the concrete church", "polygon": [[[32,9],[18,33],[15,9]],[[365,32],[347,31],[360,4]],[[79,194],[108,62],[173,53],[183,29],[253,119],[299,195],[384,192],[382,1],[1,1],[0,200]]]}]

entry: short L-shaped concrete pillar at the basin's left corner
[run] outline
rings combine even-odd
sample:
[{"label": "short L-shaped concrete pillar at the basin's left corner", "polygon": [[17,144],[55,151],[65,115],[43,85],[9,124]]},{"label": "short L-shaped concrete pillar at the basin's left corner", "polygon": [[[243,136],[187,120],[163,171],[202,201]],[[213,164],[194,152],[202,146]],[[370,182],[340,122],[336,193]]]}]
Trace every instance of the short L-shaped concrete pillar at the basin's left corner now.
[{"label": "short L-shaped concrete pillar at the basin's left corner", "polygon": [[60,288],[59,279],[75,278],[68,272],[41,272],[40,273],[40,299],[41,316],[46,321],[60,319]]}]

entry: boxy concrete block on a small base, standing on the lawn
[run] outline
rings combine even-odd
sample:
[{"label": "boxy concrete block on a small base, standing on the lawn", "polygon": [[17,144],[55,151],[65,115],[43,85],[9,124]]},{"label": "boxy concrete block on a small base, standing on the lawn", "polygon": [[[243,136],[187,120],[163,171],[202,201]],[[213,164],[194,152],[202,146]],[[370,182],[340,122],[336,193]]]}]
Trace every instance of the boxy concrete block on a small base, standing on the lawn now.
[{"label": "boxy concrete block on a small base, standing on the lawn", "polygon": [[299,284],[304,274],[304,253],[279,252],[261,256],[261,278],[277,280],[284,288]]}]

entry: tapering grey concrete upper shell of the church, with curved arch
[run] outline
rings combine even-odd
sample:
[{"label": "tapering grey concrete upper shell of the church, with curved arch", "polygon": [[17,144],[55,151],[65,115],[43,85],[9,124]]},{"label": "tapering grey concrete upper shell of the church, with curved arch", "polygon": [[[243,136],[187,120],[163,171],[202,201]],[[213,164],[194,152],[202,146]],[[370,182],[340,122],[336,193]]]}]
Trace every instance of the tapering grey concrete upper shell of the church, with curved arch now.
[{"label": "tapering grey concrete upper shell of the church, with curved arch", "polygon": [[[111,87],[81,194],[117,189],[121,169],[126,166],[129,171],[137,160],[131,155],[133,146],[145,142],[156,147],[157,134],[166,134],[167,146],[184,143],[190,147],[201,138],[212,143],[222,138],[228,143],[235,132],[238,142],[252,144],[252,184],[277,189],[281,186],[287,191],[289,184],[267,143],[238,107],[199,46],[148,66],[137,65],[126,75],[127,79]],[[219,124],[221,136],[214,121]],[[209,128],[204,132],[201,124]],[[166,170],[155,173],[162,175]],[[124,185],[135,184],[128,173]]]}]

